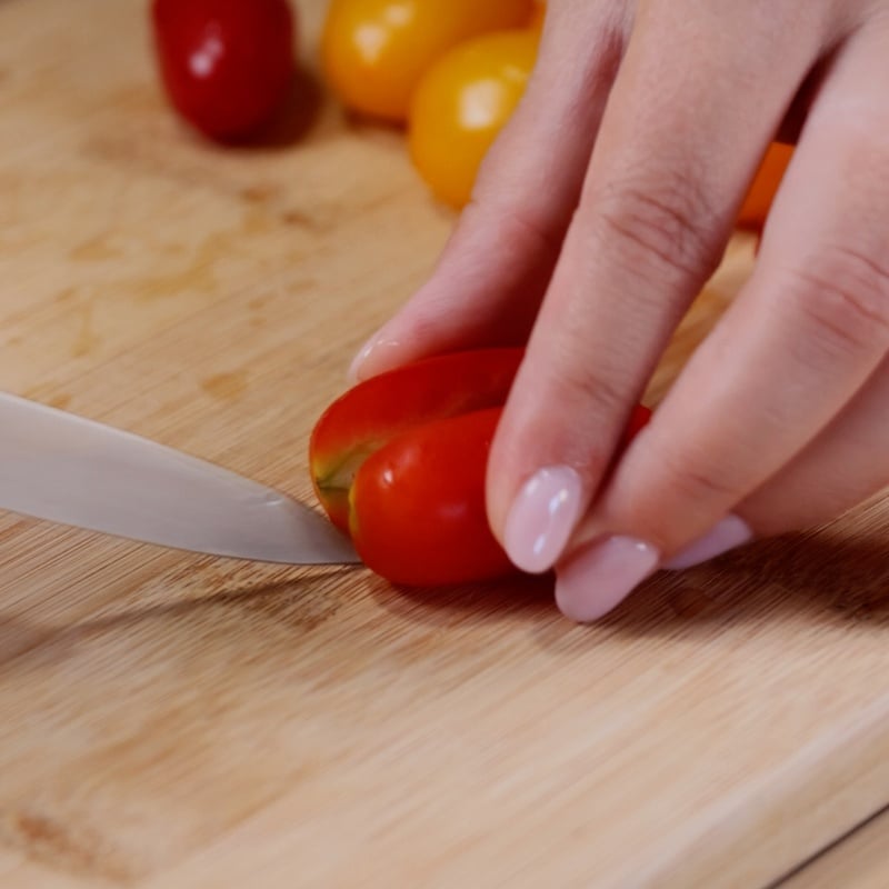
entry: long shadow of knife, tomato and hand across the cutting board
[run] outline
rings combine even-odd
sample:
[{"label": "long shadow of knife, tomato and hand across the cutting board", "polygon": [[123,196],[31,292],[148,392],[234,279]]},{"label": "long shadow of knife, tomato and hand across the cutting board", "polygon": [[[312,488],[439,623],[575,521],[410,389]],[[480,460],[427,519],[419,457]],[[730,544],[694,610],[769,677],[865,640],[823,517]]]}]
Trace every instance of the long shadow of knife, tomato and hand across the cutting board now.
[{"label": "long shadow of knife, tomato and hand across the cutting board", "polygon": [[[198,620],[224,635],[229,630],[220,627],[230,623],[229,615],[239,635],[247,631],[250,637],[251,621],[270,623],[289,647],[322,623],[336,625],[346,606],[353,610],[356,587],[343,587],[344,577],[359,577],[361,590],[399,620],[444,629],[520,623],[541,647],[553,649],[582,643],[585,633],[595,645],[602,631],[636,638],[679,631],[710,635],[720,625],[761,621],[788,611],[811,623],[866,621],[889,629],[889,516],[883,515],[885,505],[880,507],[875,507],[869,521],[863,513],[867,532],[838,522],[817,532],[753,543],[687,571],[662,571],[592,628],[561,618],[551,575],[489,585],[398,588],[361,569],[356,575],[353,568],[302,577],[272,569],[257,579],[254,566],[232,569],[212,560],[197,569],[184,565],[159,577],[157,589],[139,590],[138,603],[70,626],[32,626],[0,612],[0,668],[37,649],[47,653],[51,649],[51,659],[59,662],[83,642],[146,622]],[[379,622],[366,626],[372,635]],[[349,633],[357,641],[354,632],[350,622]]]}]

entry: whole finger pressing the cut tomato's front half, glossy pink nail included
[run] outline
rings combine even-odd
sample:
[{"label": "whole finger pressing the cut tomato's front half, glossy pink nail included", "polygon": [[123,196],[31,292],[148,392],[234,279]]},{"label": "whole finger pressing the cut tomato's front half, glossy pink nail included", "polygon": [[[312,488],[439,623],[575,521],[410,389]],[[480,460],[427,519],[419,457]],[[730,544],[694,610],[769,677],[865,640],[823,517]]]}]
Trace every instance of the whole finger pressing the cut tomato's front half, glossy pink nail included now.
[{"label": "whole finger pressing the cut tomato's front half, glossy pink nail included", "polygon": [[595,496],[825,39],[787,4],[693,6],[641,9],[493,443],[491,525],[526,570],[552,566]]}]

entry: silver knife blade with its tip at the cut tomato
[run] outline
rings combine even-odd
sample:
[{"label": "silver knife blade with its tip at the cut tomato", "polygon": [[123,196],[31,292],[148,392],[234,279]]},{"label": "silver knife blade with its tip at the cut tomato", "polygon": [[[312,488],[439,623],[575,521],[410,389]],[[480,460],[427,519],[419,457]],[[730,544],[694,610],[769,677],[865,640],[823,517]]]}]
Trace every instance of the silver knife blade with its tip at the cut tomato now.
[{"label": "silver knife blade with its tip at the cut tomato", "polygon": [[359,561],[351,542],[326,518],[273,488],[2,392],[0,510],[233,559]]}]

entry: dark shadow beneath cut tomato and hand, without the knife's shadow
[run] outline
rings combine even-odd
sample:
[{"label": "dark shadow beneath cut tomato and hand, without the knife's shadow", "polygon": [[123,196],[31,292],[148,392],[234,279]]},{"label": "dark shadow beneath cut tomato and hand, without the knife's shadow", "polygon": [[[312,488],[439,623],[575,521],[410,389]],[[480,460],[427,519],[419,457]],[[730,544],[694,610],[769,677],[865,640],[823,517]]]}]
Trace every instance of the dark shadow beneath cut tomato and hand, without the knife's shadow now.
[{"label": "dark shadow beneath cut tomato and hand, without the knife's shadow", "polygon": [[[889,628],[889,529],[868,537],[832,539],[827,531],[751,545],[708,565],[662,571],[642,585],[597,628],[633,637],[688,633],[713,625],[793,611],[812,622],[868,621]],[[541,645],[558,646],[583,632],[558,619],[552,578],[447,589],[394,588],[373,582],[382,608],[402,618],[443,626],[461,620],[517,618],[539,623]]]}]

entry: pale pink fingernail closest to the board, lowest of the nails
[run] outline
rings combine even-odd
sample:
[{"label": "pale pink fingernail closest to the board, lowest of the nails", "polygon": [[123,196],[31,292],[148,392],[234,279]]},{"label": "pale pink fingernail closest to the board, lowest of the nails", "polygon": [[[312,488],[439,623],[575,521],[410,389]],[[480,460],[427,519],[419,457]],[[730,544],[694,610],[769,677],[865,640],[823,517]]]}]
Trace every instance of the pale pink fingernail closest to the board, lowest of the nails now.
[{"label": "pale pink fingernail closest to the board, lowest of the nails", "polygon": [[598,620],[626,599],[660,561],[643,540],[609,537],[572,559],[556,580],[556,603],[571,620]]}]

